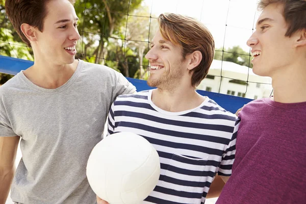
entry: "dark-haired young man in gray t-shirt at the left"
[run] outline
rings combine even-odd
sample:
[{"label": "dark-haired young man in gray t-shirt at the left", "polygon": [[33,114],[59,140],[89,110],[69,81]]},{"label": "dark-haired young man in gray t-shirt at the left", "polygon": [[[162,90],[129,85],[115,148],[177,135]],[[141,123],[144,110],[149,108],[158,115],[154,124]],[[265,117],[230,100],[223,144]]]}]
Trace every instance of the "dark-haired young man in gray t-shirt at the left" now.
[{"label": "dark-haired young man in gray t-shirt at the left", "polygon": [[5,6],[35,61],[0,88],[0,203],[11,184],[18,203],[96,203],[87,159],[114,99],[136,89],[109,67],[74,59],[80,35],[73,1],[7,0]]}]

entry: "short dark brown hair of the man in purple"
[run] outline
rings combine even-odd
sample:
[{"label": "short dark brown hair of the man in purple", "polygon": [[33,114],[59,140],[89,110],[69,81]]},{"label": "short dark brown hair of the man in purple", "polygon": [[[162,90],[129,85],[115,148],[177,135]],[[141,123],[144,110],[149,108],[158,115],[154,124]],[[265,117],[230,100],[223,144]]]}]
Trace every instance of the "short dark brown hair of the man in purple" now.
[{"label": "short dark brown hair of the man in purple", "polygon": [[283,16],[288,25],[285,36],[306,29],[306,1],[305,0],[260,0],[258,9],[263,10],[270,4],[284,6]]}]

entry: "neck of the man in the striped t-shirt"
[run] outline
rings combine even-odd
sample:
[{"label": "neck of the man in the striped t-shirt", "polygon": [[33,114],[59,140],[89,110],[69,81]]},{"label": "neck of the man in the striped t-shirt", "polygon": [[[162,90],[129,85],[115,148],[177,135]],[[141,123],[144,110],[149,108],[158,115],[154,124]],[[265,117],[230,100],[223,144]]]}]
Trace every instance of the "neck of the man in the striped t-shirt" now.
[{"label": "neck of the man in the striped t-shirt", "polygon": [[162,110],[181,112],[198,107],[205,97],[199,95],[192,86],[181,86],[175,89],[155,89],[152,91],[152,102]]}]

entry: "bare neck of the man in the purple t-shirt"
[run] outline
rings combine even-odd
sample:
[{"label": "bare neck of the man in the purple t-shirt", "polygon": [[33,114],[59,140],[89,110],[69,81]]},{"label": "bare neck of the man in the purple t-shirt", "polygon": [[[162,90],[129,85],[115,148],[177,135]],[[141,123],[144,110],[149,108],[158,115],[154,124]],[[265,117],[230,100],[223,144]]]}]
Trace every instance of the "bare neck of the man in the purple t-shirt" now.
[{"label": "bare neck of the man in the purple t-shirt", "polygon": [[273,100],[279,103],[306,101],[305,63],[296,63],[272,76]]}]

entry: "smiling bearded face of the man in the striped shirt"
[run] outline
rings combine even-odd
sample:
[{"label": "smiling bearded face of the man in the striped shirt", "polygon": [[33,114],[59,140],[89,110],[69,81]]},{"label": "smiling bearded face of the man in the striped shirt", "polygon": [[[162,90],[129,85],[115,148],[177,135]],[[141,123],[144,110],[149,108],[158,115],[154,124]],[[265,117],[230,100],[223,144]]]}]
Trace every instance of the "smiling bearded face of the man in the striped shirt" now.
[{"label": "smiling bearded face of the man in the striped shirt", "polygon": [[154,36],[145,58],[150,63],[147,84],[151,87],[171,89],[188,73],[182,48],[164,39],[160,31]]}]

